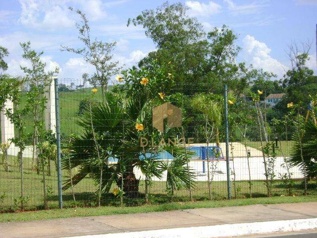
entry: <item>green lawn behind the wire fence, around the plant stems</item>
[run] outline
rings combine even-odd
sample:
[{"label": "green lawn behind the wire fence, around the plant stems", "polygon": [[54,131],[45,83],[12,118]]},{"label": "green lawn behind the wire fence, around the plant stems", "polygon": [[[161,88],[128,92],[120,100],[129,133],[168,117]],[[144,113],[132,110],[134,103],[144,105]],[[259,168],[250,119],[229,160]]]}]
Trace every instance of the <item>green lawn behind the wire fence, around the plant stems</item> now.
[{"label": "green lawn behind the wire fence, around the plant stems", "polygon": [[[18,205],[14,204],[14,199],[18,199],[20,196],[20,175],[18,172],[18,167],[14,166],[14,157],[9,157],[9,172],[5,172],[2,165],[0,165],[0,197],[4,194],[4,197],[0,198],[0,210],[17,210]],[[39,210],[43,209],[43,182],[42,175],[37,175],[36,171],[32,170],[32,161],[30,158],[24,158],[23,162],[24,170],[24,189],[25,195],[30,197],[30,200],[26,203],[25,208],[27,210]],[[75,171],[72,172],[73,174]],[[63,180],[68,179],[67,172],[63,171]],[[139,175],[136,175],[137,177]],[[54,168],[54,163],[52,162],[52,176],[47,176],[47,185],[52,191],[49,194],[49,207],[51,209],[58,207],[58,196],[57,196],[57,176]],[[237,181],[236,185],[240,187],[240,191],[237,198],[247,198],[249,191],[249,184],[247,181]],[[232,183],[232,196],[234,196],[234,185]],[[115,198],[111,193],[116,185],[113,183],[110,189],[110,193],[104,194],[103,205],[104,206],[118,206],[119,199]],[[317,183],[316,181],[310,181],[308,183],[309,195],[317,195]],[[140,196],[138,199],[124,199],[125,205],[136,206],[144,204],[144,190],[145,184],[144,180],[140,180],[139,192]],[[97,185],[94,184],[93,180],[88,176],[81,182],[74,186],[74,193],[76,199],[76,205],[81,207],[92,207],[96,205],[95,192],[97,191]],[[303,194],[303,185],[301,181],[295,181],[293,192],[295,196],[300,196]],[[213,200],[224,200],[227,196],[227,184],[226,181],[214,181],[212,182],[212,193]],[[273,184],[272,195],[281,196],[285,195],[285,186],[282,181],[276,181]],[[193,191],[193,196],[196,201],[208,200],[208,183],[206,181],[198,181],[196,189]],[[266,188],[264,186],[264,181],[257,180],[253,181],[253,197],[265,197]],[[176,202],[188,202],[189,191],[188,190],[178,190],[175,192],[174,201]],[[63,201],[64,207],[73,207],[75,204],[73,202],[71,189],[63,191]],[[150,190],[150,203],[153,205],[169,203],[171,201],[170,195],[166,192],[166,182],[165,181],[153,181]]]}]

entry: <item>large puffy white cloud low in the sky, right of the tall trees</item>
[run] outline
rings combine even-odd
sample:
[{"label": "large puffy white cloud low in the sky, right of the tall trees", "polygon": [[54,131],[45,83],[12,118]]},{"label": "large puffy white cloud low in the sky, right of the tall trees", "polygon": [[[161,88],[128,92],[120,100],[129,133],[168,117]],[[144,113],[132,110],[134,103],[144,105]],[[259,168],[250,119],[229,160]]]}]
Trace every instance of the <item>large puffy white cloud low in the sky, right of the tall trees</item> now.
[{"label": "large puffy white cloud low in the sky, right of the tall trees", "polygon": [[264,42],[256,40],[253,36],[247,35],[243,39],[243,45],[245,60],[252,63],[254,67],[273,72],[278,77],[281,77],[288,69],[287,66],[270,56],[271,49]]}]

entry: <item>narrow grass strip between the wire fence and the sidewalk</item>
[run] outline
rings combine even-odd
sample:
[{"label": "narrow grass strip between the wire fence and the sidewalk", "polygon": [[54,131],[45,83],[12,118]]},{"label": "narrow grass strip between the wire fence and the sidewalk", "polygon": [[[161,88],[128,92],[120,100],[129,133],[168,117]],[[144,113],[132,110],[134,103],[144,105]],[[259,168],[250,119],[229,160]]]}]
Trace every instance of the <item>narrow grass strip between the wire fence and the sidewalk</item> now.
[{"label": "narrow grass strip between the wire fence and the sidewalk", "polygon": [[221,201],[199,201],[199,202],[173,202],[159,205],[143,205],[137,207],[114,207],[106,206],[100,208],[67,208],[52,209],[31,212],[3,213],[0,214],[0,222],[18,222],[18,221],[34,221],[47,220],[55,218],[83,217],[83,216],[105,216],[114,214],[129,213],[147,213],[171,211],[180,209],[194,208],[212,208],[212,207],[228,207],[243,206],[252,204],[277,204],[277,203],[295,203],[295,202],[314,202],[317,201],[317,195],[299,196],[299,197],[262,197],[248,199],[232,199]]}]

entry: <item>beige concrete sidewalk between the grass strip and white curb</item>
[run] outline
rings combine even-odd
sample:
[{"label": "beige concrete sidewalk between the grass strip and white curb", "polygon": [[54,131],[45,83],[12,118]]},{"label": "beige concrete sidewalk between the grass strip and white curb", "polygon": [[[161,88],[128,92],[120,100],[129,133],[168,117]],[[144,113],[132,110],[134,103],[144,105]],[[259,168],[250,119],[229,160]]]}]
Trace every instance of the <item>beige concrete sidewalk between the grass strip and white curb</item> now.
[{"label": "beige concrete sidewalk between the grass strip and white curb", "polygon": [[201,208],[169,212],[0,223],[0,238],[63,238],[312,218],[317,218],[317,202]]}]

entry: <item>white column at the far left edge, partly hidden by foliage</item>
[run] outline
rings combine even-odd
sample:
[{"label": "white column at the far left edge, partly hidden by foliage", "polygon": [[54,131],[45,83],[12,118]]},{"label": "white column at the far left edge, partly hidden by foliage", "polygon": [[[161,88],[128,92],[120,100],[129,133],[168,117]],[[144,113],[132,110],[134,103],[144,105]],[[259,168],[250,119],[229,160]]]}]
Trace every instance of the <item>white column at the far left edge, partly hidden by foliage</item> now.
[{"label": "white column at the far left edge, partly hidden by foliage", "polygon": [[[6,109],[13,110],[12,101],[7,100],[4,104],[3,111],[0,112],[1,117],[1,143],[10,143],[10,139],[14,139],[14,125],[11,121],[5,116]],[[10,147],[14,147],[14,144],[11,143]]]}]

